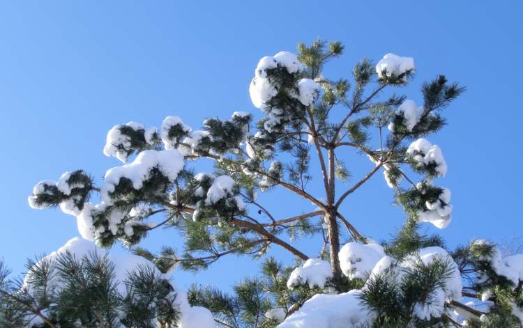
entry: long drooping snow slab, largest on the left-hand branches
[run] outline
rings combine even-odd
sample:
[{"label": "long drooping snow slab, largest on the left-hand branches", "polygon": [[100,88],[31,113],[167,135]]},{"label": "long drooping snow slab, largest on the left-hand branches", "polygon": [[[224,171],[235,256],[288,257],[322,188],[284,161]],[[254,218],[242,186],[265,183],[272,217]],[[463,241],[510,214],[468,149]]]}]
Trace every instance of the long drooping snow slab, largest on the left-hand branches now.
[{"label": "long drooping snow slab, largest on the left-hand branches", "polygon": [[109,169],[105,173],[105,181],[100,191],[102,201],[107,205],[112,204],[109,194],[114,192],[121,178],[131,180],[135,189],[142,188],[144,181],[149,178],[151,169],[155,167],[160,169],[170,182],[174,182],[183,169],[183,155],[176,149],[144,150],[133,162]]}]

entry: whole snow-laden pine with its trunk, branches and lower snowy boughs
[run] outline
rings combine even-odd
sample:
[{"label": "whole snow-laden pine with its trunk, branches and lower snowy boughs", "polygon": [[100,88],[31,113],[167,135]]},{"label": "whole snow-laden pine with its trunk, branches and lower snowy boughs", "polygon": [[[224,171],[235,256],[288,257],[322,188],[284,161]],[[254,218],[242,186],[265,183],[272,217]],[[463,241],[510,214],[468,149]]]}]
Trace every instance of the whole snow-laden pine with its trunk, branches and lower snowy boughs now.
[{"label": "whole snow-laden pine with its trunk, branches and lower snowy boughs", "polygon": [[[506,256],[485,240],[449,251],[441,237],[419,231],[423,222],[450,224],[450,191],[436,182],[446,175],[446,162],[425,138],[444,127],[441,111],[464,88],[439,75],[421,86],[423,104],[396,95],[414,76],[414,60],[395,54],[377,65],[356,64],[351,81],[324,77],[324,65],[343,49],[340,42],[316,41],[298,45],[297,56],[261,58],[250,84],[252,103],[263,113],[255,124],[251,114],[237,111],[228,120],[204,120],[202,130],[177,116],[165,118],[160,130],[115,125],[105,155],[124,163],[134,158],[109,169],[100,186],[84,171],[39,182],[31,207],[59,206],[74,215],[84,240],[70,241],[81,246],[66,247],[45,265],[31,263],[29,282],[14,284],[3,270],[3,325],[31,325],[36,316],[38,327],[149,327],[154,320],[183,328],[521,327],[522,254]],[[343,164],[354,158],[351,149],[370,159],[361,178]],[[213,173],[197,173],[192,163],[199,159],[211,159]],[[379,171],[406,214],[403,228],[381,244],[340,209]],[[308,190],[313,176],[321,193]],[[273,188],[317,209],[275,217],[257,199]],[[138,246],[160,227],[183,233],[183,252]],[[296,248],[289,241],[296,234],[321,235],[317,253]],[[110,274],[126,267],[118,258],[84,256],[89,247],[103,253],[98,247],[115,242],[155,267],[139,266],[126,278]],[[202,270],[232,254],[261,258],[269,247],[285,249],[298,263],[285,267],[265,258],[259,277],[241,281],[232,295],[206,286],[185,294],[165,283],[174,267]],[[86,281],[85,294],[78,281]]]}]

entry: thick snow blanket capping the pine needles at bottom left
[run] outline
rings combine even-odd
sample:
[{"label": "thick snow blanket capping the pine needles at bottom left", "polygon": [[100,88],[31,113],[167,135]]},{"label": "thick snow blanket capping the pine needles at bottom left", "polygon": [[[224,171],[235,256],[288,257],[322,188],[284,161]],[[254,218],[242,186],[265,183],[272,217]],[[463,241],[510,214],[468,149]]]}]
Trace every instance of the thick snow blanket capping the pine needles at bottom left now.
[{"label": "thick snow blanket capping the pine needles at bottom left", "polygon": [[[43,261],[54,262],[58,256],[70,252],[77,259],[82,258],[83,256],[89,256],[91,253],[96,253],[98,256],[105,256],[110,262],[114,264],[114,279],[116,281],[116,289],[121,295],[126,293],[126,281],[128,272],[137,270],[139,267],[149,267],[153,272],[160,276],[163,279],[169,280],[170,277],[167,274],[162,274],[149,260],[143,258],[142,256],[137,256],[131,253],[108,253],[104,249],[100,249],[93,242],[89,240],[84,240],[80,237],[74,237],[58,249],[49,255],[42,258],[36,265],[41,265]],[[30,276],[26,276],[24,279],[24,286],[29,288],[31,292],[31,283],[29,281]],[[178,327],[180,328],[215,328],[215,323],[213,320],[212,313],[200,306],[190,306],[187,299],[187,294],[183,290],[178,290],[174,283],[171,282],[171,286],[176,292],[176,299],[174,299],[173,306],[176,306],[180,311],[180,318],[177,322]],[[59,291],[61,286],[59,281],[54,278],[51,279],[50,285],[47,287],[48,290]],[[36,322],[32,322],[36,323]]]}]

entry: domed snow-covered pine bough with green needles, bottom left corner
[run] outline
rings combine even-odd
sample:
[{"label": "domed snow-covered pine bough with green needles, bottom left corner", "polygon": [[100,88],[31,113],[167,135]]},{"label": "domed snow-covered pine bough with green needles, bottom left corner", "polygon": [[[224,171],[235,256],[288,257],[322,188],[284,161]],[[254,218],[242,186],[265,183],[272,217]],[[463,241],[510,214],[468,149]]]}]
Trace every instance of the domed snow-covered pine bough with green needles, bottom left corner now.
[{"label": "domed snow-covered pine bough with green needles, bottom left corner", "polygon": [[[100,320],[102,327],[215,327],[209,310],[190,306],[186,293],[146,258],[106,253],[79,237],[29,263],[20,285],[2,276],[0,286],[10,290],[1,296],[8,306],[22,307],[17,327],[70,327],[73,321],[71,327],[97,327]],[[149,306],[137,311],[143,302]]]}]

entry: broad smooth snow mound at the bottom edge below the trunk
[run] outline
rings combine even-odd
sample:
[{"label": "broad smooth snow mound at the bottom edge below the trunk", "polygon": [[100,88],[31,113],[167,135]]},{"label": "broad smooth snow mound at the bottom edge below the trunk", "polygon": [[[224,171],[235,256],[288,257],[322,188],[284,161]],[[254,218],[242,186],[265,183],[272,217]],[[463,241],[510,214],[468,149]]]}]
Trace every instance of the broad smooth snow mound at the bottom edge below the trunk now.
[{"label": "broad smooth snow mound at the bottom edge below the trunk", "polygon": [[317,294],[277,328],[355,328],[370,324],[372,314],[360,304],[361,290]]}]

